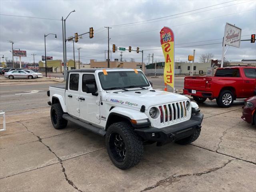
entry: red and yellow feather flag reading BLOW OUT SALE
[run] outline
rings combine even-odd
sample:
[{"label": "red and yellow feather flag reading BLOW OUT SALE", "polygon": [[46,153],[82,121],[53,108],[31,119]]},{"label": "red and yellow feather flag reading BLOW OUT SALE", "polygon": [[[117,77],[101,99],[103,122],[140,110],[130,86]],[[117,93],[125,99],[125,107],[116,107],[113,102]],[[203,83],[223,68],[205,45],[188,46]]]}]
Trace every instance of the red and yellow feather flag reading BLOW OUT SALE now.
[{"label": "red and yellow feather flag reading BLOW OUT SALE", "polygon": [[160,31],[160,42],[164,53],[164,82],[174,88],[174,34],[168,27]]}]

